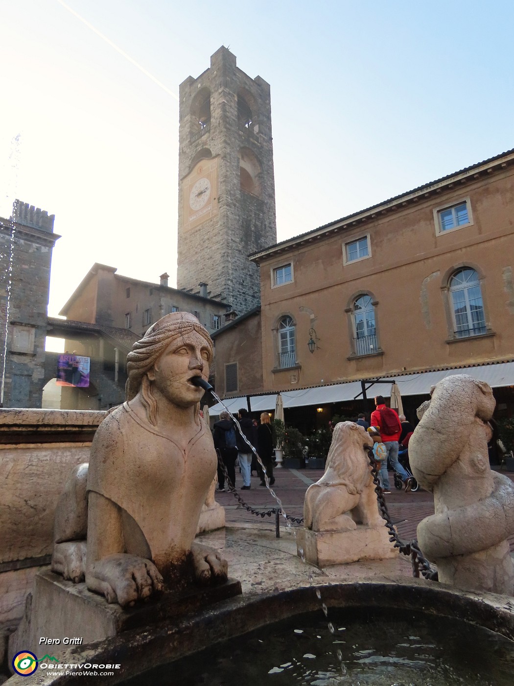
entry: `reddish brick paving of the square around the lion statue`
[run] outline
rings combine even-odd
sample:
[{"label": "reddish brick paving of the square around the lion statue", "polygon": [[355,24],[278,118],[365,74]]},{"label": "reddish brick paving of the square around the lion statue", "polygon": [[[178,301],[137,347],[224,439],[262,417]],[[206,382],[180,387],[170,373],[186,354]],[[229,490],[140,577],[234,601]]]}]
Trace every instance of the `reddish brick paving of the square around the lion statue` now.
[{"label": "reddish brick paving of the square around the lion statue", "polygon": [[[514,473],[504,472],[514,481]],[[323,475],[321,469],[276,469],[274,472],[275,484],[273,490],[282,501],[286,514],[290,517],[303,517],[304,495],[311,483],[317,482]],[[391,484],[393,478],[391,474]],[[245,503],[255,510],[267,512],[276,506],[271,493],[267,488],[260,486],[260,480],[256,475],[252,475],[252,488],[250,490],[240,490],[243,482],[241,475],[236,470],[236,488]],[[421,519],[434,514],[434,500],[431,493],[419,490],[416,493],[405,493],[403,490],[392,489],[391,495],[386,495],[386,504],[395,523],[398,535],[402,541],[411,541],[416,538],[416,528]],[[265,520],[267,525],[273,521],[274,517],[260,517],[247,512],[245,508],[238,504],[232,493],[216,493],[219,504],[225,508],[225,521],[227,525],[254,523]],[[297,526],[297,524],[294,524]],[[280,527],[284,526],[284,520],[280,519]],[[514,536],[509,538],[511,553],[514,553]]]}]

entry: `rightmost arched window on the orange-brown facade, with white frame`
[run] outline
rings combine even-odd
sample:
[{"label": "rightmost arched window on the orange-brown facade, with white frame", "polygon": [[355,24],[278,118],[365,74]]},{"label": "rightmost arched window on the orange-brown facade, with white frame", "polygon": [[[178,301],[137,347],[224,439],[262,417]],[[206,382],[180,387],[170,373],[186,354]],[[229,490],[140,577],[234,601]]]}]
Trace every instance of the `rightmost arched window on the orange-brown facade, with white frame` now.
[{"label": "rightmost arched window on the orange-brown facade, with white frame", "polygon": [[455,272],[450,279],[450,294],[456,337],[487,333],[482,291],[476,271],[465,267]]}]

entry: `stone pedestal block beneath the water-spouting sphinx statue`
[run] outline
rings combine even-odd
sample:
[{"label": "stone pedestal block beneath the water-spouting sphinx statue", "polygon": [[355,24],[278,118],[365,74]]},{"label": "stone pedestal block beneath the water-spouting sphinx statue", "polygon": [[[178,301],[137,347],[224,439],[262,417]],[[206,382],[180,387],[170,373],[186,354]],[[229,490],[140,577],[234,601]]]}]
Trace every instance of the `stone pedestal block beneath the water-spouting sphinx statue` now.
[{"label": "stone pedestal block beneath the water-spouting sphinx statue", "polygon": [[[128,629],[195,613],[239,594],[241,583],[229,579],[219,586],[195,587],[181,593],[164,592],[155,600],[123,609],[88,591],[85,583],[74,584],[51,571],[42,571],[36,575],[32,594],[27,597],[21,624],[10,636],[8,663],[20,650],[31,650],[37,657],[50,654],[60,659],[70,646],[85,646]],[[42,637],[60,642],[40,643]],[[64,643],[65,638],[82,641]]]}]

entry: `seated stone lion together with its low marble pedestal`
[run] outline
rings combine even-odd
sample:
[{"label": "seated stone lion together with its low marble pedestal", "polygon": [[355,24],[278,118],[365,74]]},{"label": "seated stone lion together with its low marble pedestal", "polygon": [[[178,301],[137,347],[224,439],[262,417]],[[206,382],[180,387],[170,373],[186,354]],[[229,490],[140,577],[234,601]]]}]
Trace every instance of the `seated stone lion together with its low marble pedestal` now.
[{"label": "seated stone lion together with its low marble pedestal", "polygon": [[367,455],[371,447],[363,427],[337,424],[325,473],[306,491],[298,554],[318,567],[397,556],[378,511]]}]

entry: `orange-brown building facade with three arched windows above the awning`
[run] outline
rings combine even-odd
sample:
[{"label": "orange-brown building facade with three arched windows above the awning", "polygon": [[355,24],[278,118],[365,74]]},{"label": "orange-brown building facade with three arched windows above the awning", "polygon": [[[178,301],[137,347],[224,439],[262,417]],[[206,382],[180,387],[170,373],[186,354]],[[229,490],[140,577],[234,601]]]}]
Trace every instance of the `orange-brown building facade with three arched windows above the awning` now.
[{"label": "orange-brown building facade with three arched windows above the awning", "polygon": [[508,362],[514,151],[251,259],[263,392]]}]

